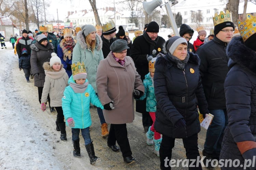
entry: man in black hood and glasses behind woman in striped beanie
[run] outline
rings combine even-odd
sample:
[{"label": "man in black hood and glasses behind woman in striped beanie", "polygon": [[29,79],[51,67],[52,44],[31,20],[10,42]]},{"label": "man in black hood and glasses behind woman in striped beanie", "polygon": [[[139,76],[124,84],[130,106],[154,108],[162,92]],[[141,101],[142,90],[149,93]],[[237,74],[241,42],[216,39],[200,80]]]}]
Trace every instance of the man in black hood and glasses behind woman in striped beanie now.
[{"label": "man in black hood and glasses behind woman in striped beanie", "polygon": [[196,53],[194,45],[189,43],[189,40],[192,38],[194,30],[190,28],[187,24],[182,24],[180,27],[180,36],[187,40],[187,51]]}]

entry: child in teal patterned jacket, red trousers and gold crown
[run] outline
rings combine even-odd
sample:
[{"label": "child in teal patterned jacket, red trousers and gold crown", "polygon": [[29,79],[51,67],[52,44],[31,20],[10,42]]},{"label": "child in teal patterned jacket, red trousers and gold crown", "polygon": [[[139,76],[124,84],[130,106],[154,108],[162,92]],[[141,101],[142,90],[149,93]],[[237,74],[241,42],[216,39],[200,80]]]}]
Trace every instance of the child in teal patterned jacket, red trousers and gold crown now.
[{"label": "child in teal patterned jacket, red trousers and gold crown", "polygon": [[[161,56],[161,53],[158,54],[158,56]],[[157,56],[157,57],[158,57]],[[154,128],[154,123],[156,119],[156,96],[154,92],[154,73],[155,73],[155,62],[157,57],[148,57],[147,60],[149,73],[145,75],[145,79],[143,80],[143,85],[145,87],[145,92],[143,96],[139,100],[144,100],[146,98],[146,111],[150,114],[150,117],[153,120],[153,124],[148,128],[148,131],[146,133],[147,137],[147,145],[154,145],[155,143],[155,149],[154,153],[159,156],[159,149],[160,144],[162,141],[161,134],[156,132]],[[153,139],[154,136],[154,139]]]}]

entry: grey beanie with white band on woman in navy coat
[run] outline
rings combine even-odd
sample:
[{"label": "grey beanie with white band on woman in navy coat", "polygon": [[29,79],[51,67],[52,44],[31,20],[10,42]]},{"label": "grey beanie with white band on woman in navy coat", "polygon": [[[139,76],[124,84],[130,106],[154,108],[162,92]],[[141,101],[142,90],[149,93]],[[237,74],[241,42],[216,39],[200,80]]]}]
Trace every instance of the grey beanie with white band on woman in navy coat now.
[{"label": "grey beanie with white band on woman in navy coat", "polygon": [[187,40],[185,38],[182,38],[180,36],[173,36],[169,38],[166,41],[165,48],[168,50],[171,54],[174,53],[175,49],[181,44],[181,43],[186,43]]}]

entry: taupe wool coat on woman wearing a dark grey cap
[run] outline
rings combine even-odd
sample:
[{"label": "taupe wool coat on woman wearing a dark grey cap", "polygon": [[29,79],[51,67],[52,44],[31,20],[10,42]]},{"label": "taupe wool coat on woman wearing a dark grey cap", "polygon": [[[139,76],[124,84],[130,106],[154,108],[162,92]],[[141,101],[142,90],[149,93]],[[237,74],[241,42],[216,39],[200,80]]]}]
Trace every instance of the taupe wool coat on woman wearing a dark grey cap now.
[{"label": "taupe wool coat on woman wearing a dark grey cap", "polygon": [[105,121],[113,124],[131,123],[134,120],[133,91],[138,89],[144,92],[132,58],[126,56],[125,65],[122,66],[109,53],[100,61],[96,85],[102,105],[114,101],[115,109],[103,109]]}]

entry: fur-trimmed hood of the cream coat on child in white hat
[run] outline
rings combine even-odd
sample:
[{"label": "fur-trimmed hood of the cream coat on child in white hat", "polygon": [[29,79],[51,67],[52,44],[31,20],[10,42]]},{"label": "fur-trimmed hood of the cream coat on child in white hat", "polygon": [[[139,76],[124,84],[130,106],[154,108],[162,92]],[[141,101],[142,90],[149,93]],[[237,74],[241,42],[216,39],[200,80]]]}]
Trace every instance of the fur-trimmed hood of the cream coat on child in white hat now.
[{"label": "fur-trimmed hood of the cream coat on child in white hat", "polygon": [[66,70],[63,68],[63,65],[61,64],[59,71],[54,71],[53,68],[50,66],[50,62],[45,62],[43,64],[45,75],[49,76],[52,79],[59,79],[63,77],[63,75],[66,73]]}]

